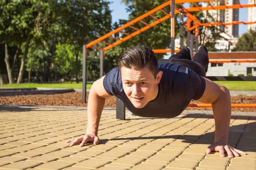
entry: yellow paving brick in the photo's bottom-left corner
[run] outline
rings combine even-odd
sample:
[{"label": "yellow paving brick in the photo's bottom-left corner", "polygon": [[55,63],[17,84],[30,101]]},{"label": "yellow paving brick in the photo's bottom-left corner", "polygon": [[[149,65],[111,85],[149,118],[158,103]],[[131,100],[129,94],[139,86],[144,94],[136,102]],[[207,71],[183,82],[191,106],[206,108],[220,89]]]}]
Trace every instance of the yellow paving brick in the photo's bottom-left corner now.
[{"label": "yellow paving brick in the photo's bottom-left corner", "polygon": [[25,170],[27,168],[32,168],[35,166],[38,166],[40,164],[43,164],[42,162],[38,162],[38,161],[18,161],[12,164],[7,164],[2,166],[1,168],[4,169],[15,169],[15,170]]}]

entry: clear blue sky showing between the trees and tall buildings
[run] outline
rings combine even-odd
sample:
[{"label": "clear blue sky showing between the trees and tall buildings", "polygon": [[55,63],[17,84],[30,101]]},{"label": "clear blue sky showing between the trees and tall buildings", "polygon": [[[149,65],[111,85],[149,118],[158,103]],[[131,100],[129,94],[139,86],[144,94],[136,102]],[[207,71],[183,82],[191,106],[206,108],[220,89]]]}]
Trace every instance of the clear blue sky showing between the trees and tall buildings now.
[{"label": "clear blue sky showing between the trees and tall buildings", "polygon": [[[118,21],[119,19],[128,20],[128,13],[126,13],[126,6],[121,0],[110,0],[111,3],[110,9],[113,11],[112,14],[112,23]],[[248,0],[240,0],[241,4],[247,4]],[[138,16],[139,17],[139,16]],[[248,21],[248,8],[239,9],[239,21]],[[239,35],[247,32],[247,25],[239,24]]]}]

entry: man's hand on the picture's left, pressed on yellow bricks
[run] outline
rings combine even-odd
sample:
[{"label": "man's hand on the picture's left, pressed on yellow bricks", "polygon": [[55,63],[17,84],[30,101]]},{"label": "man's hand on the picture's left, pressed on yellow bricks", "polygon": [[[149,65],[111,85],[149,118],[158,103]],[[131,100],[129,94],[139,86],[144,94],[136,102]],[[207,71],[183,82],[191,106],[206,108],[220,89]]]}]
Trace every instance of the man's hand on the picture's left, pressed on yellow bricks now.
[{"label": "man's hand on the picture's left, pressed on yellow bricks", "polygon": [[68,143],[69,146],[73,146],[79,142],[81,142],[79,144],[80,147],[84,146],[84,144],[86,144],[87,142],[93,142],[93,144],[96,145],[96,144],[99,144],[99,138],[95,134],[89,133],[86,135],[81,135],[76,139],[70,139],[66,141],[66,143]]}]

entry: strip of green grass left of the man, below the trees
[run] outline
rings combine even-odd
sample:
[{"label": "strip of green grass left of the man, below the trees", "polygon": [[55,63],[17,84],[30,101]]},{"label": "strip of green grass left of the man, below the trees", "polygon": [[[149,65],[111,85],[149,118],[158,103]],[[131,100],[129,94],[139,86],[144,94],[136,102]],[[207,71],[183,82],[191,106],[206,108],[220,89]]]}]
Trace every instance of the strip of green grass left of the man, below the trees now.
[{"label": "strip of green grass left of the man, below the trees", "polygon": [[[65,82],[65,83],[21,83],[0,85],[0,88],[82,88],[82,82]],[[91,88],[92,84],[87,84],[86,88]]]}]

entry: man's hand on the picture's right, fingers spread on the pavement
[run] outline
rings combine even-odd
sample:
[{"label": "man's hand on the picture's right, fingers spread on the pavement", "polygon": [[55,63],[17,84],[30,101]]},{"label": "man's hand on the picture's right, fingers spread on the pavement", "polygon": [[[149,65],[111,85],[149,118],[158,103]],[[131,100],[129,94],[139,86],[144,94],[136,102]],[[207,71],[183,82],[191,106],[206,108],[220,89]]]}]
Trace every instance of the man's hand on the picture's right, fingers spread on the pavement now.
[{"label": "man's hand on the picture's right, fingers spread on the pavement", "polygon": [[233,158],[234,156],[240,156],[239,154],[247,155],[247,153],[229,146],[226,142],[214,142],[214,144],[210,145],[206,149],[206,154],[208,155],[212,151],[219,152],[221,157],[225,157],[225,152],[227,152],[227,155],[230,158]]}]

